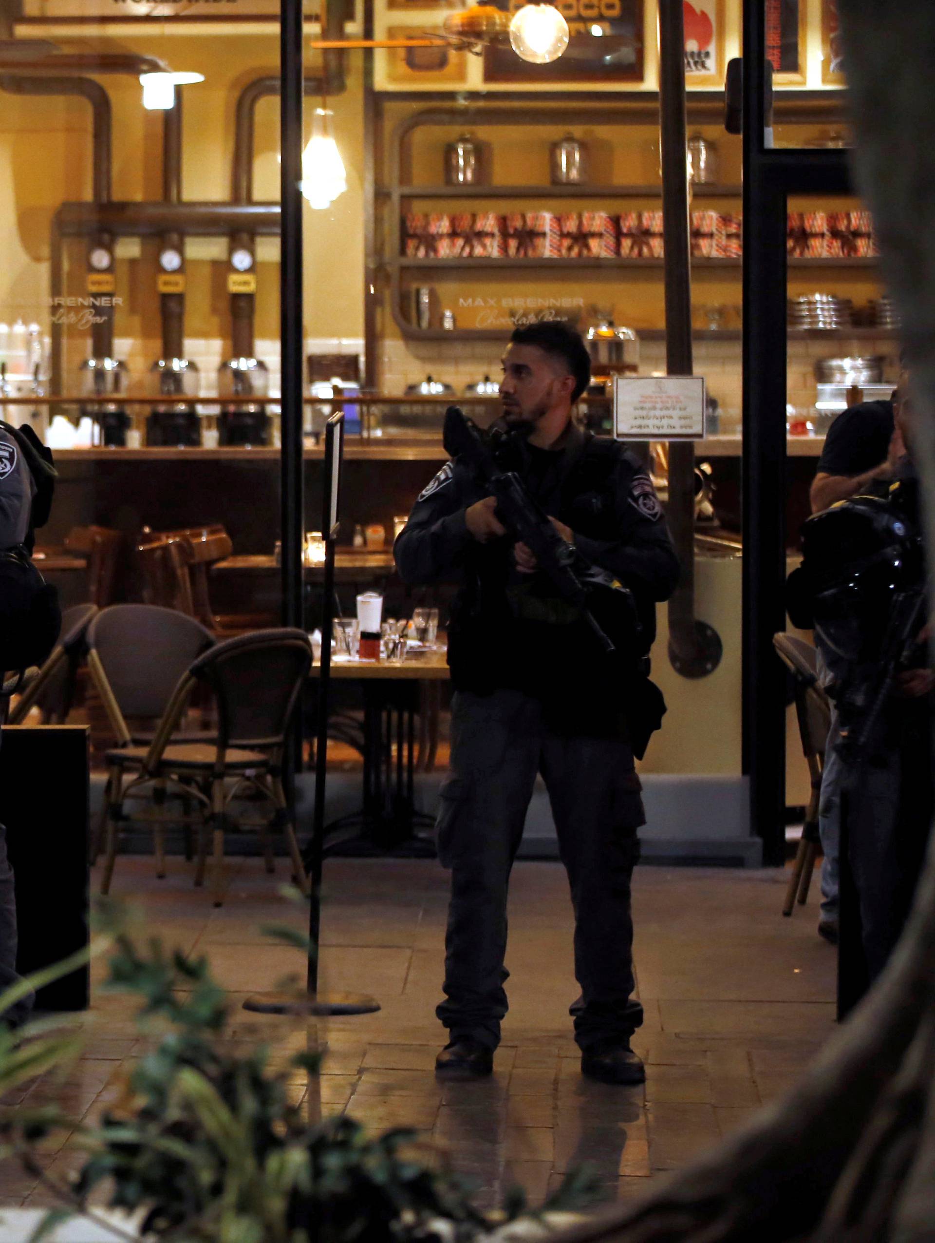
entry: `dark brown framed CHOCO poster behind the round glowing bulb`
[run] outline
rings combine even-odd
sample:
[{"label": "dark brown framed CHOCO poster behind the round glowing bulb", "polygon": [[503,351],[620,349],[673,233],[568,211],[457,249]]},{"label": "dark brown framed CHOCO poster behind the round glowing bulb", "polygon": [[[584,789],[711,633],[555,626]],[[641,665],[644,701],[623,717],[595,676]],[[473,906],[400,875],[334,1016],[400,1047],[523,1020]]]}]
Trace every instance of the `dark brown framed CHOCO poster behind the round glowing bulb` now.
[{"label": "dark brown framed CHOCO poster behind the round glowing bulb", "polygon": [[[509,44],[484,48],[486,82],[569,83],[643,81],[643,0],[555,0],[571,39],[550,65],[522,61]],[[514,14],[524,0],[494,0]],[[600,36],[597,31],[600,30]]]}]

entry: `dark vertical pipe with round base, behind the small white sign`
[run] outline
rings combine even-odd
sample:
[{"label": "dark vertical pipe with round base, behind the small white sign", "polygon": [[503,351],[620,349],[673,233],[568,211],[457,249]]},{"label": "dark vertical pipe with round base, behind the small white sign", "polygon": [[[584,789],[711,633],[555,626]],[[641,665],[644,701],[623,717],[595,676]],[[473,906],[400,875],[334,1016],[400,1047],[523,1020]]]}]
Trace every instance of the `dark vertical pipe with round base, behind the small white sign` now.
[{"label": "dark vertical pipe with round base, behind the small white sign", "polygon": [[[685,117],[685,27],[683,0],[659,0],[659,145],[666,273],[666,370],[690,375],[692,260],[688,226],[688,148]],[[721,641],[695,618],[694,444],[669,444],[667,517],[682,567],[669,600],[669,660],[684,677],[716,669]]]}]

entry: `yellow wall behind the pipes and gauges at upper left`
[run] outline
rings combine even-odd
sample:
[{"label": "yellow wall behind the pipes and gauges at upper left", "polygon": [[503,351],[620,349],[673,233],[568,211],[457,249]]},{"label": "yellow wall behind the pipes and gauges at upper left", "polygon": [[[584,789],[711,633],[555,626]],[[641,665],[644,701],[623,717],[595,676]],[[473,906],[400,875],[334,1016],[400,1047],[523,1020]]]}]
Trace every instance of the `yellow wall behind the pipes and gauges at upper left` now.
[{"label": "yellow wall behind the pipes and gauges at upper left", "polygon": [[[127,41],[129,44],[129,40]],[[94,46],[101,46],[97,41]],[[113,47],[113,45],[111,45]],[[115,48],[114,48],[115,50]],[[227,200],[236,99],[256,77],[278,72],[276,37],[137,37],[133,50],[173,67],[205,73],[185,88],[183,194],[191,200]],[[327,211],[305,211],[305,333],[363,336],[363,72],[360,53],[349,57],[349,89],[332,101],[334,131],[348,170],[348,190]],[[102,76],[113,106],[113,196],[161,196],[161,114],[147,112],[135,78]],[[313,101],[308,101],[308,113]],[[310,123],[310,116],[307,116]],[[257,108],[255,195],[276,201],[279,190],[279,108],[276,98]],[[2,94],[0,123],[0,318],[48,322],[50,226],[60,203],[91,196],[91,109],[82,99]],[[134,342],[132,363],[158,352],[156,242],[123,244],[117,295],[123,300],[115,333]],[[137,257],[125,257],[132,254]],[[67,292],[82,293],[84,244],[66,247]],[[278,245],[264,244],[258,259],[257,337],[278,338]],[[195,240],[189,250],[186,337],[230,337],[226,244]],[[67,334],[70,365],[88,353],[87,333]],[[138,357],[135,357],[138,355]],[[133,368],[134,372],[137,367]]]}]

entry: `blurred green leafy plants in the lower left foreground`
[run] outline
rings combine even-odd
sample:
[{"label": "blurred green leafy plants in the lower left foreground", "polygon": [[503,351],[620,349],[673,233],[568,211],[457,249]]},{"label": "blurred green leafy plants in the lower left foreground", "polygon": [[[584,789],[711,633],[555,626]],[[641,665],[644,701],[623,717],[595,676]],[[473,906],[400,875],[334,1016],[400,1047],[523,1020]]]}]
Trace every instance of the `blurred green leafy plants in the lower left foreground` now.
[{"label": "blurred green leafy plants in the lower left foreground", "polygon": [[[309,952],[293,927],[263,931]],[[320,1054],[299,1052],[273,1065],[269,1045],[231,1040],[230,1002],[207,960],[137,935],[113,904],[96,912],[87,953],[7,989],[0,1016],[31,988],[104,952],[104,988],[139,998],[135,1022],[151,1052],[128,1071],[118,1103],[89,1124],[57,1105],[30,1106],[27,1095],[2,1108],[0,1157],[19,1160],[61,1202],[32,1243],[75,1213],[93,1218],[92,1193],[94,1206],[128,1214],[125,1228],[107,1214],[115,1238],[173,1243],[461,1243],[504,1222],[595,1201],[594,1180],[575,1171],[536,1214],[519,1188],[484,1214],[472,1204],[471,1185],[438,1154],[420,1150],[415,1132],[370,1135],[348,1116],[310,1122],[289,1085],[297,1070],[315,1076]],[[38,1075],[67,1076],[83,1040],[82,1029],[61,1018],[17,1030],[0,1024],[0,1096],[21,1098]],[[67,1185],[50,1180],[37,1158],[60,1129],[86,1154]]]}]

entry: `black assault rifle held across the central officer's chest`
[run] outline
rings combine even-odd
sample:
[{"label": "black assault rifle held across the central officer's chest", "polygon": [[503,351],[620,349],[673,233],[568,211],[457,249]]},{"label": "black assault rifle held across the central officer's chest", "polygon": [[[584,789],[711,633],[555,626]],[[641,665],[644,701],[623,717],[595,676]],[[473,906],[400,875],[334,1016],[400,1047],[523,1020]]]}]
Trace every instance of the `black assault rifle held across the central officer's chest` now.
[{"label": "black assault rifle held across the central officer's chest", "polygon": [[[498,436],[505,446],[509,438],[504,433],[484,435],[457,405],[449,405],[445,411],[445,451],[473,467],[488,493],[497,498],[497,517],[508,533],[529,548],[539,569],[549,577],[559,595],[579,609],[603,651],[615,653],[616,645],[591,612],[591,593],[575,569],[575,549],[562,539],[541,506],[530,497],[519,475],[503,470],[495,452]],[[600,576],[602,572],[596,573]],[[630,590],[610,580],[602,585],[613,590],[626,610],[627,623],[638,630],[636,605]]]}]

